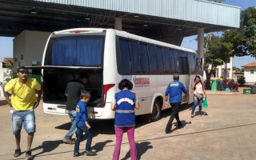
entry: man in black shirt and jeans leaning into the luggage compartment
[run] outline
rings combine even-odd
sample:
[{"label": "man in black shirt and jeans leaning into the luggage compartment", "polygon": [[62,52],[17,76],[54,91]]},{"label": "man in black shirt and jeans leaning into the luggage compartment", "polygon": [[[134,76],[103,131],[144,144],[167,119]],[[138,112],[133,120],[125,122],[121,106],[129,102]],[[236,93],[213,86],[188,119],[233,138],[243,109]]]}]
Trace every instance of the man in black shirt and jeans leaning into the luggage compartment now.
[{"label": "man in black shirt and jeans leaning into the luggage compartment", "polygon": [[65,135],[63,142],[66,144],[74,144],[74,140],[72,140],[72,135],[77,130],[76,126],[76,106],[80,100],[80,94],[82,90],[85,90],[85,84],[88,81],[88,75],[85,73],[81,73],[78,79],[75,79],[71,82],[67,83],[66,86],[66,114],[69,114],[71,126],[68,133]]}]

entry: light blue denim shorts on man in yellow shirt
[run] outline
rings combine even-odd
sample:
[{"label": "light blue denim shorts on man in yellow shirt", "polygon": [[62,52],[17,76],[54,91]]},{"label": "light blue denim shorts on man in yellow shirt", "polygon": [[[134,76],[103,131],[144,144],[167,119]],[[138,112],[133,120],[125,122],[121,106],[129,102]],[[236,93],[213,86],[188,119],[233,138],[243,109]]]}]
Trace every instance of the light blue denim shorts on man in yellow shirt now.
[{"label": "light blue denim shorts on man in yellow shirt", "polygon": [[24,129],[26,130],[27,134],[35,132],[35,117],[34,117],[34,110],[22,110],[22,111],[15,111],[12,114],[12,123],[13,123],[13,134],[17,135],[21,133],[22,130],[22,123],[24,124]]}]

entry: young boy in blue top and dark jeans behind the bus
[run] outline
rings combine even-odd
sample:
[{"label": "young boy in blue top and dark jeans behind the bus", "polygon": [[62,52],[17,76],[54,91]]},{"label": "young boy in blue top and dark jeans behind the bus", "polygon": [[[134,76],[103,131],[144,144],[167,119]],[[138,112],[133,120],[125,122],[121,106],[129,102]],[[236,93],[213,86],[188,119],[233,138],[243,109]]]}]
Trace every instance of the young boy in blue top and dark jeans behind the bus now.
[{"label": "young boy in blue top and dark jeans behind the bus", "polygon": [[90,124],[88,122],[88,114],[86,110],[86,103],[90,100],[90,93],[86,90],[82,90],[80,95],[80,101],[76,106],[76,126],[77,126],[77,140],[74,145],[74,157],[79,156],[79,146],[82,139],[82,133],[86,133],[87,142],[86,142],[86,155],[96,155],[96,153],[90,150],[91,140],[93,138],[93,134],[90,132]]}]

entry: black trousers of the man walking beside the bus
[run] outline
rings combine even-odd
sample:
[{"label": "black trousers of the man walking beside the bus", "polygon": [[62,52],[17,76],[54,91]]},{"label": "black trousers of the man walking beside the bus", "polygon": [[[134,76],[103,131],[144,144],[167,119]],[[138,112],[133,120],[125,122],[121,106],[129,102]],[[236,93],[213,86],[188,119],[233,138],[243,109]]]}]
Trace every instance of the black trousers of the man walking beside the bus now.
[{"label": "black trousers of the man walking beside the bus", "polygon": [[180,104],[181,104],[180,102],[170,103],[170,106],[171,106],[171,108],[170,108],[170,119],[167,122],[166,130],[171,130],[171,123],[174,121],[174,118],[176,119],[178,125],[182,123],[179,120],[179,117],[178,117],[178,108],[179,108]]}]

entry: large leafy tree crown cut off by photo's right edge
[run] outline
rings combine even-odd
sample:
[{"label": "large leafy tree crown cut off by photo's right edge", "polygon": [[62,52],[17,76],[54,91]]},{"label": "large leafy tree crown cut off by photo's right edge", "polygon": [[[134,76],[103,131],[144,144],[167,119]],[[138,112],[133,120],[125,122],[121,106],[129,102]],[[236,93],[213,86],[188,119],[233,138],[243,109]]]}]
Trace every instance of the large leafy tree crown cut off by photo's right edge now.
[{"label": "large leafy tree crown cut off by photo's right edge", "polygon": [[254,6],[242,11],[240,28],[226,30],[223,37],[225,42],[233,44],[233,56],[256,57],[256,9]]}]

